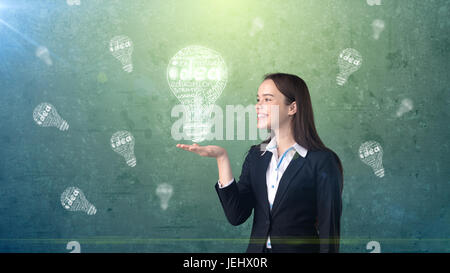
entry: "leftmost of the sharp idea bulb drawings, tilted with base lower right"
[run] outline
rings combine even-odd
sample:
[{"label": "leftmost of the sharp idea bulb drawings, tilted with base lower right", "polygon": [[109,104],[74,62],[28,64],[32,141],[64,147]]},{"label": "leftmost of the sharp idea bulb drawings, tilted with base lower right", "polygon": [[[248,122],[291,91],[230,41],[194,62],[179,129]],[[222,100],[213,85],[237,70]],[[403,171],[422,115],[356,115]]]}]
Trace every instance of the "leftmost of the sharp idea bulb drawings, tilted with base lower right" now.
[{"label": "leftmost of the sharp idea bulb drawings, tilted with base lower right", "polygon": [[34,108],[33,119],[42,127],[57,127],[61,131],[69,129],[67,121],[63,120],[56,108],[48,102],[43,102]]}]

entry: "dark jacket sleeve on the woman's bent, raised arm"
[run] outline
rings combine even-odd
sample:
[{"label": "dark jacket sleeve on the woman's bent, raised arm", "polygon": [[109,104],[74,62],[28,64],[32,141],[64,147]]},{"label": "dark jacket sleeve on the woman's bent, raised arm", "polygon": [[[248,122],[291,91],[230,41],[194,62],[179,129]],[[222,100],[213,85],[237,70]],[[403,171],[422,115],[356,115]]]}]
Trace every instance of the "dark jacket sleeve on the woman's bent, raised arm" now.
[{"label": "dark jacket sleeve on the woman's bent, raised arm", "polygon": [[225,215],[233,226],[244,223],[255,207],[255,198],[250,181],[250,168],[251,149],[245,157],[238,183],[234,179],[230,185],[224,188],[219,188],[218,183],[215,183],[216,192]]}]

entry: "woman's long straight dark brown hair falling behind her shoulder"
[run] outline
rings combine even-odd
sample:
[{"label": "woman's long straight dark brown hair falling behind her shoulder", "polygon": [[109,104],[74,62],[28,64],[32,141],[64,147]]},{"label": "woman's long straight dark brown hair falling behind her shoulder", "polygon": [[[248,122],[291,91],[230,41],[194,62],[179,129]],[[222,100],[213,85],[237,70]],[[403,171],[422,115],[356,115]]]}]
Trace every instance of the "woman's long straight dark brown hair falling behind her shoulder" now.
[{"label": "woman's long straight dark brown hair falling behind her shoulder", "polygon": [[[342,183],[344,181],[344,170],[339,156],[331,149],[323,144],[317,134],[316,125],[314,124],[314,114],[312,109],[311,97],[309,95],[308,86],[300,77],[285,73],[266,74],[264,80],[272,80],[278,90],[286,97],[286,105],[296,102],[297,113],[294,114],[292,120],[292,129],[294,132],[294,140],[308,151],[327,150],[330,151],[337,159],[339,170],[341,171]],[[264,140],[261,144],[269,143],[271,137]],[[259,145],[261,145],[259,144]],[[341,185],[341,191],[343,189]]]}]

